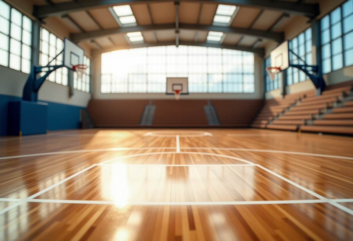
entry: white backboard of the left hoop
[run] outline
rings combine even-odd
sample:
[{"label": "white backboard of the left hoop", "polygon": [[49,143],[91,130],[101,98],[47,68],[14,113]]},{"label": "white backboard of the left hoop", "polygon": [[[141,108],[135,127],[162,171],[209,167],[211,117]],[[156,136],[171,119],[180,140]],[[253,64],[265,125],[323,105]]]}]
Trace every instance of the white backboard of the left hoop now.
[{"label": "white backboard of the left hoop", "polygon": [[64,38],[64,65],[72,69],[77,64],[83,64],[85,51],[68,38]]}]

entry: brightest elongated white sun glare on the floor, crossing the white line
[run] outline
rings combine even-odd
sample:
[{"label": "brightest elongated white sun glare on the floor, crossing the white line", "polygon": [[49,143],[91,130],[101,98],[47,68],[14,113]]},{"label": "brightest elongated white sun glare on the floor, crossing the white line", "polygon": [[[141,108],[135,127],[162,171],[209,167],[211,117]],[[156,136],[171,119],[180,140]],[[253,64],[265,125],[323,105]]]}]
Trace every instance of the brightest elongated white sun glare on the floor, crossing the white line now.
[{"label": "brightest elongated white sun glare on the floor, crossing the white line", "polygon": [[123,208],[130,198],[130,190],[127,181],[127,167],[122,163],[116,163],[111,168],[110,197],[116,206]]}]

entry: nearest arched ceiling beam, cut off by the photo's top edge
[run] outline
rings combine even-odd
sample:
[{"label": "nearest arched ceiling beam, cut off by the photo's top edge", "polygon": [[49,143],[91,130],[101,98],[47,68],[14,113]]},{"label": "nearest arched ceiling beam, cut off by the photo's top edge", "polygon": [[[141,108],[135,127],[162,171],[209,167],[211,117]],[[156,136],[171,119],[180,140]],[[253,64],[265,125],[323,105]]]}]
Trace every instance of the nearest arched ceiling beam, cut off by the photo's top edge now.
[{"label": "nearest arched ceiling beam, cut off by the photo's top edge", "polygon": [[[84,0],[69,1],[57,3],[54,6],[43,5],[34,6],[33,15],[39,19],[46,17],[62,15],[70,12],[90,10],[96,7],[111,7],[115,5],[149,3],[149,2],[165,2],[166,0]],[[318,4],[298,4],[297,2],[279,1],[279,0],[186,0],[191,2],[215,2],[217,4],[231,4],[240,6],[251,6],[261,9],[304,15],[311,18],[318,16],[320,13]]]}]

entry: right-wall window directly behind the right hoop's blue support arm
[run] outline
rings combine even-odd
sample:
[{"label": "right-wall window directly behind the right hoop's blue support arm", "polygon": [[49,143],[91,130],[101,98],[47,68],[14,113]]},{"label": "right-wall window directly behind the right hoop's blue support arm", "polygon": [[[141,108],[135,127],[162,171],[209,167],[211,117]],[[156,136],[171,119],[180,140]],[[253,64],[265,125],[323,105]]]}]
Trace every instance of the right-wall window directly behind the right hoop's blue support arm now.
[{"label": "right-wall window directly behind the right hoop's blue support arm", "polygon": [[[300,33],[297,37],[289,41],[289,49],[291,49],[296,55],[304,60],[308,65],[312,64],[312,31],[311,27],[306,31]],[[289,61],[292,64],[304,64],[297,56],[292,52],[289,52]],[[298,68],[289,67],[287,69],[287,85],[296,84],[298,82],[305,81],[309,77]]]}]

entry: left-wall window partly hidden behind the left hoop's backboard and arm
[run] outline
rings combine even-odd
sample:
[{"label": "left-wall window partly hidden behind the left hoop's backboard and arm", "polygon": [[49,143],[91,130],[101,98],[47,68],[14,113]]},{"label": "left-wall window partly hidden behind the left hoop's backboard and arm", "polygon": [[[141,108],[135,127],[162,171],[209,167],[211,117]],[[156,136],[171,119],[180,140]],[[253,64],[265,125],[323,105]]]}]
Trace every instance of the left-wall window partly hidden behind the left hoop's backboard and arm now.
[{"label": "left-wall window partly hidden behind the left hoop's backboard and arm", "polygon": [[[40,37],[40,57],[39,64],[40,66],[46,66],[50,61],[58,55],[64,48],[64,42],[49,33],[48,30],[41,28],[41,37]],[[62,64],[62,53],[53,60],[50,65],[60,65]],[[42,75],[45,73],[42,72]],[[67,68],[59,68],[49,74],[47,80],[56,82],[58,84],[67,85]]]}]

